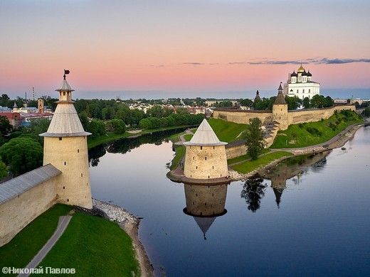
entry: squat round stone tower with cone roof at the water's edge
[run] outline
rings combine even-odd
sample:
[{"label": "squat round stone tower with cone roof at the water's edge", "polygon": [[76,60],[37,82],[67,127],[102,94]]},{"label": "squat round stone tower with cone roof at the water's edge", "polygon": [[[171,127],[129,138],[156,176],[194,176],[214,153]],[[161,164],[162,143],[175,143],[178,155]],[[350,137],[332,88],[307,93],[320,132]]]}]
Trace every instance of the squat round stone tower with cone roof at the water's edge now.
[{"label": "squat round stone tower with cone roof at the water's edge", "polygon": [[219,141],[204,119],[191,141],[185,142],[184,175],[193,179],[214,179],[228,176],[226,142]]}]

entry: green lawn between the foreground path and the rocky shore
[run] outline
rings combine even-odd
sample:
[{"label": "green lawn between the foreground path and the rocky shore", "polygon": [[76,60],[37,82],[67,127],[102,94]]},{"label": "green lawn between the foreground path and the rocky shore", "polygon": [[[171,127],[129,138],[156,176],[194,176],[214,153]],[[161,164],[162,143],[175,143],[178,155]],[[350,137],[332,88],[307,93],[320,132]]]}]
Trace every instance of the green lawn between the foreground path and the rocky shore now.
[{"label": "green lawn between the foreground path and the rocky shore", "polygon": [[139,276],[131,238],[117,223],[82,212],[40,265],[75,268],[75,276]]}]

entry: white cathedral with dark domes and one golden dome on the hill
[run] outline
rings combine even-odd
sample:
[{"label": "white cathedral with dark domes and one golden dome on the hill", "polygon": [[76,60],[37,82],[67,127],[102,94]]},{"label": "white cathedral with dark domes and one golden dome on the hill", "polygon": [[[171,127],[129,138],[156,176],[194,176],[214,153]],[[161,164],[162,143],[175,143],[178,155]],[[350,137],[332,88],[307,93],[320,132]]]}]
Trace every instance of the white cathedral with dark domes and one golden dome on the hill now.
[{"label": "white cathedral with dark domes and one golden dome on the hill", "polygon": [[320,84],[312,81],[312,74],[310,70],[306,72],[305,68],[301,65],[297,73],[293,71],[289,73],[287,82],[284,84],[284,95],[290,97],[298,97],[311,99],[314,95],[320,94]]}]

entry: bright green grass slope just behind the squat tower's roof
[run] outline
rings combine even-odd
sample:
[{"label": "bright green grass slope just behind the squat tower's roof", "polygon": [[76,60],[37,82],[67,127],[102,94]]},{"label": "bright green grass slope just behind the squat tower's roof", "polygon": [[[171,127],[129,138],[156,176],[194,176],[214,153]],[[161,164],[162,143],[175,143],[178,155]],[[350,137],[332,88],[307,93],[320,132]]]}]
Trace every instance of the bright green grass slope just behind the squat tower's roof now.
[{"label": "bright green grass slope just behind the squat tower's roof", "polygon": [[247,129],[247,124],[237,124],[222,119],[208,119],[213,131],[215,131],[220,141],[232,142],[243,139],[240,133]]}]

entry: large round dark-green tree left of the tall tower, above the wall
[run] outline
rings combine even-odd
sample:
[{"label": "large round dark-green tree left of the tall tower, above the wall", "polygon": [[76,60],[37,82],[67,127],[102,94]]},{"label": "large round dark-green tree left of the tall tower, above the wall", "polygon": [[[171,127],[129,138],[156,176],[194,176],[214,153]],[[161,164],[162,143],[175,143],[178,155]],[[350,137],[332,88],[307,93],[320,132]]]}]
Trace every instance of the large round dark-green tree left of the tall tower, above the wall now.
[{"label": "large round dark-green tree left of the tall tower, above the wall", "polygon": [[0,147],[1,159],[14,175],[38,168],[43,163],[43,148],[38,141],[20,136]]}]

